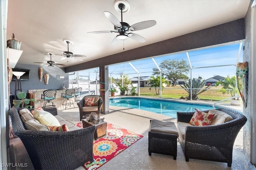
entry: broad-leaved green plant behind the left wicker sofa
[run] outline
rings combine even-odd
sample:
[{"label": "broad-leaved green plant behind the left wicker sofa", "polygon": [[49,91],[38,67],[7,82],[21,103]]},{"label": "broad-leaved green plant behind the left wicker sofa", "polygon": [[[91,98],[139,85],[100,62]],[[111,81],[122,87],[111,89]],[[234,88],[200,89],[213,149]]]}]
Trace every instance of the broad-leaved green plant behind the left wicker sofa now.
[{"label": "broad-leaved green plant behind the left wicker sofa", "polygon": [[31,105],[28,105],[30,101],[36,102],[34,99],[27,99],[27,94],[25,92],[18,92],[17,98],[20,100],[13,100],[12,104],[14,104],[14,107],[22,107],[22,108],[28,108],[30,109],[33,107]]}]

